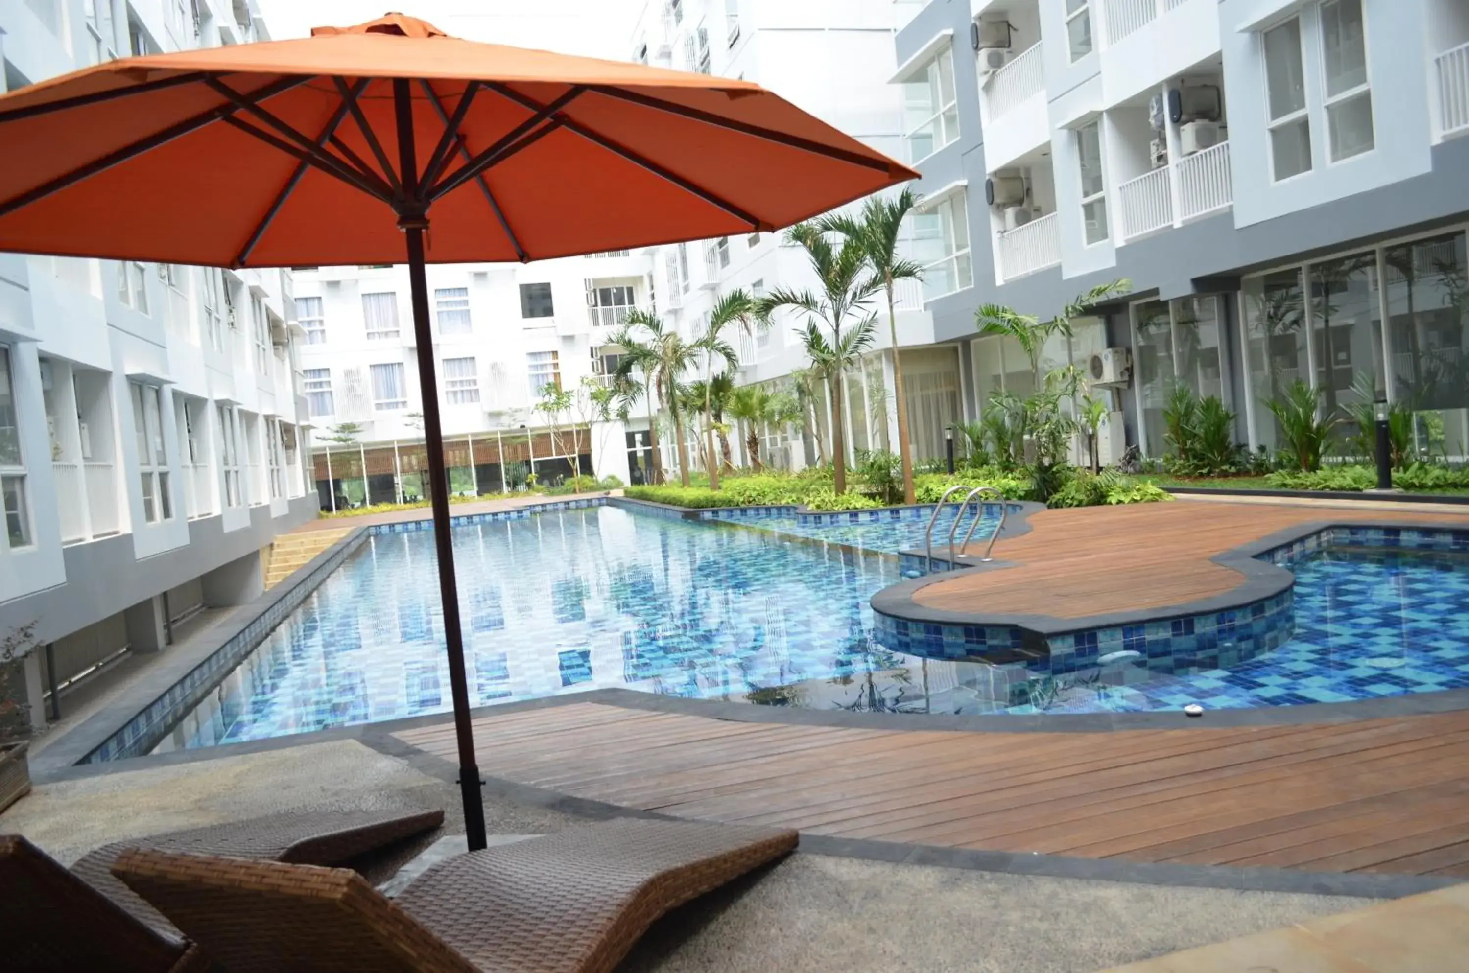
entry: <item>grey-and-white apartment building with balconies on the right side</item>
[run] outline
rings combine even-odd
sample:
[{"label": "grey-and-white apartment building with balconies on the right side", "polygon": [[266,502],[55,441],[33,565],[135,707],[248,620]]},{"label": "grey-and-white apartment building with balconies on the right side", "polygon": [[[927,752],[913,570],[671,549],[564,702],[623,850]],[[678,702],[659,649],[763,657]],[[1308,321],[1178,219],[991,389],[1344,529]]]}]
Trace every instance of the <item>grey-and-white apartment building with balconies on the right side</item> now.
[{"label": "grey-and-white apartment building with balconies on the right side", "polygon": [[958,267],[927,307],[970,346],[965,414],[1030,382],[977,307],[1044,317],[1127,279],[1046,364],[1122,349],[1099,385],[1146,455],[1175,385],[1274,449],[1265,402],[1303,379],[1325,408],[1363,383],[1407,404],[1421,448],[1462,459],[1466,43],[1466,0],[927,3],[893,81],[943,216],[924,260]]}]

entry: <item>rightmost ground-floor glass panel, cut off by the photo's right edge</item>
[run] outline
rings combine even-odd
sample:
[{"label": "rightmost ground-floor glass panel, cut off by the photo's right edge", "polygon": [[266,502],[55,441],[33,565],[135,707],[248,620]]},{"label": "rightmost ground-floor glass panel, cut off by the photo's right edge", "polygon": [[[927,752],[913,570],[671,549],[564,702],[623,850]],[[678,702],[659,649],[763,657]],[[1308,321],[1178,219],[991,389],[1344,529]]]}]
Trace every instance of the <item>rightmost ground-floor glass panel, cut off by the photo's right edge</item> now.
[{"label": "rightmost ground-floor glass panel, cut off by the photo's right edge", "polygon": [[1469,260],[1465,235],[1384,251],[1391,392],[1415,412],[1413,446],[1431,456],[1469,455]]}]

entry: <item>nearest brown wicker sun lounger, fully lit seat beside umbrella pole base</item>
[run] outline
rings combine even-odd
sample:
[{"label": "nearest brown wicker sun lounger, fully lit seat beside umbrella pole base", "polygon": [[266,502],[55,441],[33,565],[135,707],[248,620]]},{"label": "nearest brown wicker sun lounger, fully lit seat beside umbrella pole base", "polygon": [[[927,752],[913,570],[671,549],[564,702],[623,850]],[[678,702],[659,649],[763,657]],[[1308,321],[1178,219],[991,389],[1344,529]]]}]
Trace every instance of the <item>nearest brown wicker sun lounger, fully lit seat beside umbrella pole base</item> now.
[{"label": "nearest brown wicker sun lounger, fully lit seat beside umbrella pole base", "polygon": [[442,861],[394,901],[341,869],[129,850],[113,872],[231,973],[607,973],[655,919],[795,845],[618,819]]}]

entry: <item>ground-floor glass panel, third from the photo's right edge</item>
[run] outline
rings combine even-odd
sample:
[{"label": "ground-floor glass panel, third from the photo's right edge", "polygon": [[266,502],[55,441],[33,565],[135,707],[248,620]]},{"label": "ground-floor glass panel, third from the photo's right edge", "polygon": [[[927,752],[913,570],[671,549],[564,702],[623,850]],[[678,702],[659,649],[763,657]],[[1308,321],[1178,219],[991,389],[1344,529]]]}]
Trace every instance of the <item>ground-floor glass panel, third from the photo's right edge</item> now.
[{"label": "ground-floor glass panel, third from the photo's right edge", "polygon": [[1297,379],[1312,377],[1302,272],[1249,277],[1241,296],[1253,442],[1274,452],[1281,445],[1279,426],[1265,404],[1281,398]]}]

